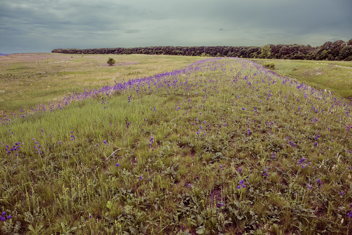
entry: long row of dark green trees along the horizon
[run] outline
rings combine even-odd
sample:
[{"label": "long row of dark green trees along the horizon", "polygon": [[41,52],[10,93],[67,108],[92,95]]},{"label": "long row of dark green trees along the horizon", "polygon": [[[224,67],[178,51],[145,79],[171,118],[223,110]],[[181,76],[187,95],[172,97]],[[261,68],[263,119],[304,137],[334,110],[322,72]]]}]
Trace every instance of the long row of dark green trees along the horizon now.
[{"label": "long row of dark green trees along the horizon", "polygon": [[134,47],[134,48],[95,48],[95,49],[54,49],[51,52],[65,54],[147,54],[216,56],[242,58],[270,58],[291,60],[345,60],[352,61],[352,39],[326,42],[320,47],[310,45],[265,45],[264,47]]}]

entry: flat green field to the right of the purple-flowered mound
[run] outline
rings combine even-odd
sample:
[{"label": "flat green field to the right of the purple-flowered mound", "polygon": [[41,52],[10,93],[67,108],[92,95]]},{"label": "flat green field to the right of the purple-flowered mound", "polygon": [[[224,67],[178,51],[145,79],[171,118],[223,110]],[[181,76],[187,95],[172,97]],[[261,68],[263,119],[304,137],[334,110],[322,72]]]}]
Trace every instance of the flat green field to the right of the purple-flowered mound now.
[{"label": "flat green field to the right of the purple-flowered mound", "polygon": [[274,63],[276,72],[294,76],[317,89],[334,91],[339,97],[352,97],[351,61],[251,60],[260,64]]}]

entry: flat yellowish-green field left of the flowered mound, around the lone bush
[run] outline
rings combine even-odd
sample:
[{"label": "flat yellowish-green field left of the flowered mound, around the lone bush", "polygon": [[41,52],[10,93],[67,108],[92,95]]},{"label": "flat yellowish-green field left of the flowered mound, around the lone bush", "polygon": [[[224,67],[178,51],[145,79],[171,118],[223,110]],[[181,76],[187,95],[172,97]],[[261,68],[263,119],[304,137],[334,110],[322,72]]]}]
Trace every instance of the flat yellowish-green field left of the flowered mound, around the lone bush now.
[{"label": "flat yellowish-green field left of the flowered mound, around the lone bush", "polygon": [[[109,66],[108,57],[116,60]],[[180,69],[204,57],[164,55],[69,55],[25,53],[0,57],[0,117],[49,103],[83,87]]]}]

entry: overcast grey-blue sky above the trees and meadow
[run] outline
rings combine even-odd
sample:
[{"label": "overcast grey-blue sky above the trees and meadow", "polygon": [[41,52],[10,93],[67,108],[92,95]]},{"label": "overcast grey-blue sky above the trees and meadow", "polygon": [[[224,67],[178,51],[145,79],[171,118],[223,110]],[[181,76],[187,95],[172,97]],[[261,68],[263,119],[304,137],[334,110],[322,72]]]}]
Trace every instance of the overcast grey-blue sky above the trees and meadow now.
[{"label": "overcast grey-blue sky above the trees and meadow", "polygon": [[352,0],[0,0],[0,53],[352,38]]}]

